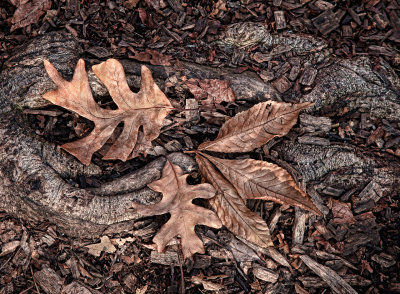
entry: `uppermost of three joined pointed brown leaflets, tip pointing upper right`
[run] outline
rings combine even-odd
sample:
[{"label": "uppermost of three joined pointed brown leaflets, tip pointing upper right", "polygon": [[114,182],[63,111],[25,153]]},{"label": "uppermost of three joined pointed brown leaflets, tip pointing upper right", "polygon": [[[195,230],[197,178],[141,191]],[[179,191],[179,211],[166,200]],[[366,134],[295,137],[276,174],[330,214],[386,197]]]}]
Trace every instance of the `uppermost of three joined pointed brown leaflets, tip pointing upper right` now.
[{"label": "uppermost of three joined pointed brown leaflets, tip pointing upper right", "polygon": [[297,121],[299,112],[311,103],[267,101],[238,113],[220,129],[214,141],[200,144],[198,150],[249,152],[274,137],[286,135]]}]

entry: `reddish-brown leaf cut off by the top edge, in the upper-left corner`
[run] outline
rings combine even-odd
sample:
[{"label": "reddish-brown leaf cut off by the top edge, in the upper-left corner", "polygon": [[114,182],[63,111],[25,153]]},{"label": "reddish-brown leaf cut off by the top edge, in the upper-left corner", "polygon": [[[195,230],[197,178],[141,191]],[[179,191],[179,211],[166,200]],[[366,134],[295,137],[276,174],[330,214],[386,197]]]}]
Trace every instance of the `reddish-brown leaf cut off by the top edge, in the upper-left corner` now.
[{"label": "reddish-brown leaf cut off by the top edge, in the upper-left corner", "polygon": [[32,1],[12,1],[17,6],[11,19],[11,32],[16,29],[26,27],[30,24],[37,23],[39,18],[51,8],[51,0],[32,0]]}]

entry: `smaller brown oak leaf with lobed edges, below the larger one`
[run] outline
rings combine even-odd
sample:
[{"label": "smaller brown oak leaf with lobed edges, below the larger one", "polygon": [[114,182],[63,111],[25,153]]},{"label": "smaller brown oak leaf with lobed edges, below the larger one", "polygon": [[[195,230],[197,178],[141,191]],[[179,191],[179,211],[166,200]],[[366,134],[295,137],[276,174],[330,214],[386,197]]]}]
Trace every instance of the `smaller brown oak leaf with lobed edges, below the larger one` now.
[{"label": "smaller brown oak leaf with lobed edges, below the larger one", "polygon": [[172,238],[180,236],[183,256],[190,258],[196,252],[204,253],[203,243],[194,231],[195,225],[220,228],[222,224],[213,211],[192,203],[195,198],[214,197],[213,186],[188,185],[187,177],[179,166],[167,160],[161,179],[148,184],[150,189],[163,194],[161,201],[154,205],[133,203],[132,206],[138,213],[146,216],[170,213],[171,218],[161,227],[153,242],[157,245],[157,250],[162,252]]}]

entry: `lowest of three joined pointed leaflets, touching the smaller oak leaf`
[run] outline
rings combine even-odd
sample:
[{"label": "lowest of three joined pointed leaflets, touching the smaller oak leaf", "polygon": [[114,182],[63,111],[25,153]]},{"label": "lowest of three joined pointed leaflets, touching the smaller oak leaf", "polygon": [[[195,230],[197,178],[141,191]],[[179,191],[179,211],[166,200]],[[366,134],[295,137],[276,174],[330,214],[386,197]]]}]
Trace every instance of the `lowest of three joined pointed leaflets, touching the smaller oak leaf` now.
[{"label": "lowest of three joined pointed leaflets, touching the smaller oak leaf", "polygon": [[210,204],[222,224],[232,233],[261,247],[273,246],[269,228],[265,221],[247,208],[236,189],[203,156],[196,155],[201,174],[217,190]]}]

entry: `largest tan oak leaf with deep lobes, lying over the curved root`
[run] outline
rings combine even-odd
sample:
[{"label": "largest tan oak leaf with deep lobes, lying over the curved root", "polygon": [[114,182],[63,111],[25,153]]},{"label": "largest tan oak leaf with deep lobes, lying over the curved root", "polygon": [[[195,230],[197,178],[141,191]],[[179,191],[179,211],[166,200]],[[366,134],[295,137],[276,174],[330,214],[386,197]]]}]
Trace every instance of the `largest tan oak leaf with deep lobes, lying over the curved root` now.
[{"label": "largest tan oak leaf with deep lobes, lying over the curved root", "polygon": [[[142,81],[138,93],[129,89],[124,69],[117,60],[109,59],[92,67],[118,106],[116,110],[109,110],[101,108],[94,101],[82,59],[76,65],[71,82],[64,80],[47,60],[44,65],[58,88],[47,92],[43,98],[94,122],[95,127],[88,136],[61,146],[85,165],[89,165],[93,153],[105,144],[121,122],[124,123],[124,128],[103,159],[125,161],[137,156],[143,151],[143,146],[151,145],[151,141],[158,137],[162,122],[172,109],[168,98],[156,85],[150,70],[145,66],[142,66]],[[143,127],[144,136],[138,146],[140,126]]]}]

